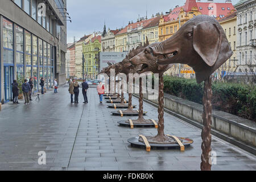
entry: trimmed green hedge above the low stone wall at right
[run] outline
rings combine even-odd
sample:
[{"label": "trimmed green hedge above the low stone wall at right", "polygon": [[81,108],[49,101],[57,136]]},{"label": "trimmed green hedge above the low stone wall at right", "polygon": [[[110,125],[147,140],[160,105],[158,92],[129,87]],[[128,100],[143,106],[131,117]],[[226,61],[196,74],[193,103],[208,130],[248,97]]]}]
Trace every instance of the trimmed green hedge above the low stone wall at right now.
[{"label": "trimmed green hedge above the low stone wall at right", "polygon": [[[204,82],[195,79],[164,76],[164,92],[202,104]],[[256,88],[247,85],[213,82],[212,104],[214,109],[256,121]]]}]

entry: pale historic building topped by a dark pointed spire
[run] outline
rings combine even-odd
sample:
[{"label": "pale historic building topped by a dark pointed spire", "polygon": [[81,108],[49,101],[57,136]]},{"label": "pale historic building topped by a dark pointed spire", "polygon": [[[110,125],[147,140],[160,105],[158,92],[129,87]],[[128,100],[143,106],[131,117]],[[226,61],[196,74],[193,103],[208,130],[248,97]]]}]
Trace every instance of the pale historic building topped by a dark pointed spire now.
[{"label": "pale historic building topped by a dark pointed spire", "polygon": [[119,30],[110,30],[106,31],[106,24],[104,24],[104,30],[101,35],[101,47],[102,52],[115,52],[115,34]]}]

